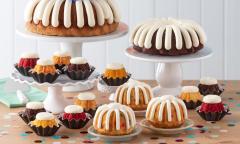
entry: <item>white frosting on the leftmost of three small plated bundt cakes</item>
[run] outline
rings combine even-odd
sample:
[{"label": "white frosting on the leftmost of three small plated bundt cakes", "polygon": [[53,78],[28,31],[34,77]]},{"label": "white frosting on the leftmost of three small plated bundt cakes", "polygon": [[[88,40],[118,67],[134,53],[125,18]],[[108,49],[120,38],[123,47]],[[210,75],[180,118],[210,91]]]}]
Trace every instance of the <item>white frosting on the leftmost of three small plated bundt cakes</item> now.
[{"label": "white frosting on the leftmost of three small plated bundt cakes", "polygon": [[[100,106],[95,114],[93,119],[93,125],[97,128],[105,128],[106,130],[110,129],[110,116],[112,113],[116,114],[116,130],[120,130],[120,112],[123,113],[126,120],[126,128],[129,129],[136,125],[136,118],[133,110],[127,106],[121,105],[119,103],[110,103]],[[106,113],[105,127],[102,126],[102,118]]]}]

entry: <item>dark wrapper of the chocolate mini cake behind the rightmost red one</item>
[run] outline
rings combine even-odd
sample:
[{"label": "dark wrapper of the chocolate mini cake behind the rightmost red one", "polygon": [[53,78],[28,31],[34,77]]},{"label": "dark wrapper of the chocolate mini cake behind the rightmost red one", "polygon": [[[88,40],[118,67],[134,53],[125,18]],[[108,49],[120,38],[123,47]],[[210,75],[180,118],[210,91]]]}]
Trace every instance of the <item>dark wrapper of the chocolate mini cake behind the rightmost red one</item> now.
[{"label": "dark wrapper of the chocolate mini cake behind the rightmost red one", "polygon": [[204,96],[209,95],[209,94],[214,94],[214,95],[220,96],[224,92],[224,89],[218,84],[210,85],[210,86],[205,86],[205,85],[199,84],[198,88],[199,88],[199,92]]}]

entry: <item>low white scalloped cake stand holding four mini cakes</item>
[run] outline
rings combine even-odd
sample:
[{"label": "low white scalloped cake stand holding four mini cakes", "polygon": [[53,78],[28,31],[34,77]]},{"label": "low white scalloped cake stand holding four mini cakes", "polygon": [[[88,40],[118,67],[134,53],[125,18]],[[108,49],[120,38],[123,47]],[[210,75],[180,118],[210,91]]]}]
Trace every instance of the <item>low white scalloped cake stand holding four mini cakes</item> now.
[{"label": "low white scalloped cake stand holding four mini cakes", "polygon": [[38,85],[48,87],[48,95],[44,100],[44,108],[54,114],[59,114],[63,112],[64,108],[70,104],[70,101],[64,98],[62,94],[62,88],[64,86],[82,86],[82,85],[92,85],[96,83],[98,74],[93,72],[93,74],[87,79],[82,81],[74,81],[69,79],[66,75],[60,75],[54,83],[38,83],[31,77],[22,76],[18,71],[14,71],[11,74],[11,78],[19,83],[28,85]]}]

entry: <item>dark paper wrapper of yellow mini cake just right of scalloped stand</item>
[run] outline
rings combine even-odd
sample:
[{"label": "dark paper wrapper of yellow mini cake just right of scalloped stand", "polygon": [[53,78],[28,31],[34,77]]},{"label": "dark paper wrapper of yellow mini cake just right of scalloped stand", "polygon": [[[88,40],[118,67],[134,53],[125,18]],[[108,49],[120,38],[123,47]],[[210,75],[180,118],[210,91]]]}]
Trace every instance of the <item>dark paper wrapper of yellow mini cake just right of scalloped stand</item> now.
[{"label": "dark paper wrapper of yellow mini cake just right of scalloped stand", "polygon": [[113,78],[106,78],[104,77],[103,75],[101,76],[102,80],[108,85],[108,86],[120,86],[124,83],[126,83],[131,77],[131,74],[128,74],[127,77],[125,78],[116,78],[116,79],[113,79]]}]

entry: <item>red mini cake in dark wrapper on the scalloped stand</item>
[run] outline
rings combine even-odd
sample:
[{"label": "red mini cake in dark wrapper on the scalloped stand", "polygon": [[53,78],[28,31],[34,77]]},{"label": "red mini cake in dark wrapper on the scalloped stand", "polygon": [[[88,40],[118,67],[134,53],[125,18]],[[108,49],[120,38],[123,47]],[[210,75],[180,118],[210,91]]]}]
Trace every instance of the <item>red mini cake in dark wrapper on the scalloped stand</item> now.
[{"label": "red mini cake in dark wrapper on the scalloped stand", "polygon": [[37,53],[24,53],[14,67],[24,76],[30,76],[29,70],[35,67],[39,56]]}]

